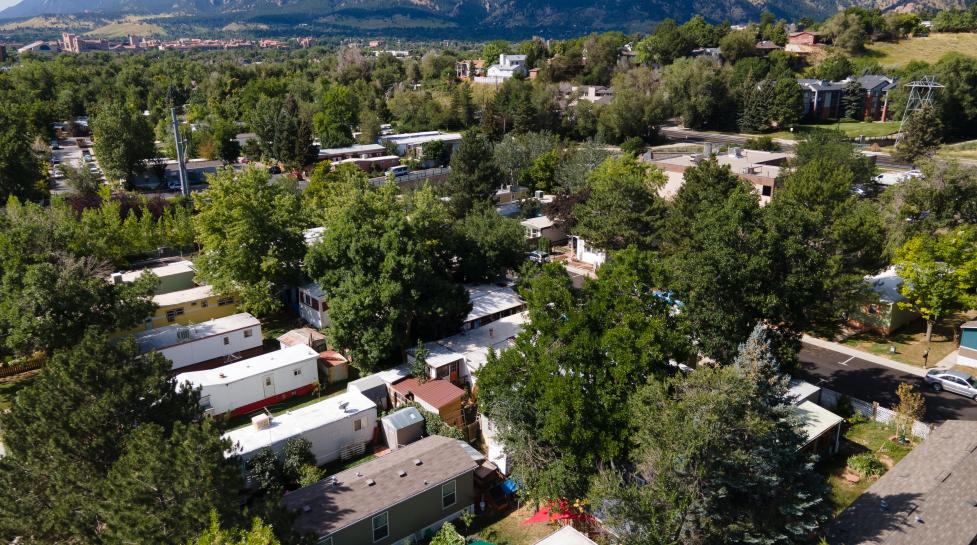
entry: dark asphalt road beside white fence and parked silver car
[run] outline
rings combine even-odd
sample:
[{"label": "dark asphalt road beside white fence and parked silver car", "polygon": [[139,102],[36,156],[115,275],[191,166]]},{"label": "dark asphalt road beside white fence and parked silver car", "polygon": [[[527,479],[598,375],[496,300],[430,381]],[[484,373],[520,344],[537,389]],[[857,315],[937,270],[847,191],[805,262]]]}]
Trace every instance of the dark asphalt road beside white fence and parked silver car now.
[{"label": "dark asphalt road beside white fence and parked silver car", "polygon": [[896,387],[908,382],[918,385],[926,398],[926,421],[977,420],[977,402],[949,392],[938,394],[919,376],[808,344],[801,350],[800,360],[799,378],[847,396],[891,408],[898,403]]}]

